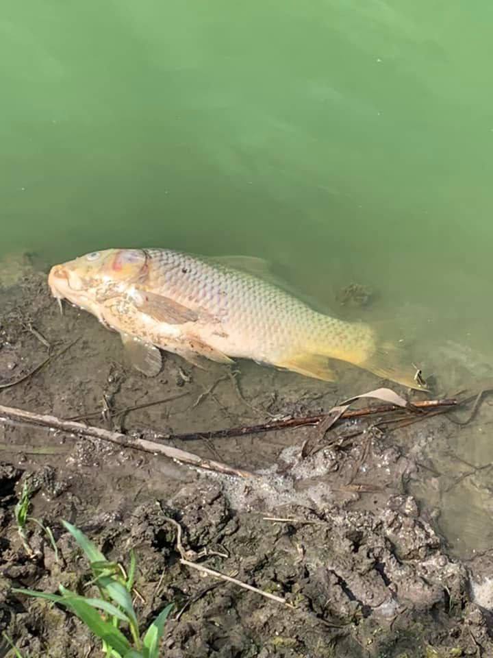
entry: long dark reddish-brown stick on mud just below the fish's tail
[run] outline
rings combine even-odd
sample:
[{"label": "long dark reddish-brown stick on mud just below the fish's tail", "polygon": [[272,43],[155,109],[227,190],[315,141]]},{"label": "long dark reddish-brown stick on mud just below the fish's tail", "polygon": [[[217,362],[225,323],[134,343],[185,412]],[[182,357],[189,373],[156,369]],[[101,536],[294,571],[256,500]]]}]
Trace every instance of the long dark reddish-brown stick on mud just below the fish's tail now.
[{"label": "long dark reddish-brown stick on mud just below the fish's tail", "polygon": [[[437,407],[453,407],[457,406],[458,401],[453,399],[445,400],[420,400],[414,402],[413,406],[418,409],[435,409]],[[370,406],[365,409],[355,409],[353,411],[344,411],[338,418],[337,422],[341,419],[357,418],[360,416],[368,416],[377,413],[391,413],[392,411],[409,411],[403,407],[394,404],[380,404],[379,406]],[[447,411],[444,409],[444,411]],[[423,413],[420,415],[422,418],[430,415]],[[285,420],[276,420],[270,423],[262,423],[260,425],[248,425],[242,427],[233,427],[225,430],[214,430],[212,432],[188,432],[186,434],[173,434],[173,435],[160,435],[158,439],[173,439],[175,441],[197,441],[197,439],[226,439],[228,437],[242,437],[249,434],[260,434],[261,432],[274,432],[276,430],[285,430],[293,427],[302,427],[307,425],[318,425],[323,419],[327,417],[327,413],[322,413],[314,416],[301,416],[295,418],[287,418]],[[335,423],[336,424],[336,423]]]}]

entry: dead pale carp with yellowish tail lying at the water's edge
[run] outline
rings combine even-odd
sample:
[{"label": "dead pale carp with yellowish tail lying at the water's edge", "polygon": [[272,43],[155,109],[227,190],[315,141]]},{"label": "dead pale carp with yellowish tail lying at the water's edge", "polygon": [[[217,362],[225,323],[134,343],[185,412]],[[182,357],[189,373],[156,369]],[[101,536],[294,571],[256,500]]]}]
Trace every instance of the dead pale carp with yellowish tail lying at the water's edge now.
[{"label": "dead pale carp with yellowish tail lying at the water's edge", "polygon": [[259,258],[208,258],[170,249],[105,249],[55,265],[51,293],[119,334],[144,374],[160,371],[160,349],[194,365],[249,358],[333,381],[330,360],[346,361],[422,388],[403,348],[374,328],[311,308],[268,273]]}]

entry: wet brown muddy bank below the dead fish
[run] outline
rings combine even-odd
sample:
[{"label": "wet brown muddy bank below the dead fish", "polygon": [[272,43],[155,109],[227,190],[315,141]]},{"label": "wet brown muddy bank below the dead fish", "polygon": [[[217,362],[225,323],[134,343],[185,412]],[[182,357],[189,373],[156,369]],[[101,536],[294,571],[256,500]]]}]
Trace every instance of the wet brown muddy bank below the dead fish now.
[{"label": "wet brown muddy bank below the dead fish", "polygon": [[[144,378],[123,361],[118,337],[94,318],[73,308],[60,316],[42,273],[9,280],[0,288],[0,308],[0,385],[23,378],[50,349],[55,355],[34,376],[0,389],[1,404],[85,419],[130,437],[318,413],[381,383],[344,369],[327,387],[251,363],[240,363],[240,375],[231,377],[218,365],[200,371],[175,356],[166,357],[157,378]],[[170,401],[112,415],[158,400]],[[489,410],[480,409],[471,435],[488,427]],[[487,533],[481,555],[459,557],[442,524],[451,492],[466,480],[487,499],[488,469],[457,482],[466,473],[453,461],[463,430],[440,417],[352,437],[362,423],[342,424],[331,447],[307,459],[301,449],[314,428],[177,443],[254,471],[249,479],[0,423],[0,629],[24,655],[101,655],[73,616],[10,591],[55,592],[59,583],[82,591],[87,565],[63,531],[65,518],[115,561],[127,561],[135,548],[142,622],[175,602],[166,656],[493,655]],[[438,463],[439,454],[449,461]],[[25,480],[34,491],[31,515],[52,529],[58,562],[36,524],[28,526],[31,555],[18,535],[14,507]],[[185,550],[205,552],[198,563],[289,605],[181,564],[165,515],[183,528]]]}]

